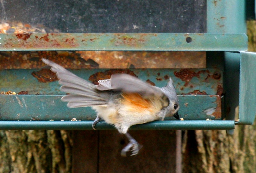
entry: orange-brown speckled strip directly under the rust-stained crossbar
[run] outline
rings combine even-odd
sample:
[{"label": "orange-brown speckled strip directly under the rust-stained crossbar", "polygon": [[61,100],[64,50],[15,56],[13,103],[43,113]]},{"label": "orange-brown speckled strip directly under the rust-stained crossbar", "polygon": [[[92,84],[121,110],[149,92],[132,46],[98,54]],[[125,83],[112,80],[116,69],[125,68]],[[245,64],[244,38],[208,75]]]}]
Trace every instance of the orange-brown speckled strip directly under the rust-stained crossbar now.
[{"label": "orange-brown speckled strip directly under the rust-stained crossbar", "polygon": [[0,68],[206,68],[204,51],[0,51]]}]

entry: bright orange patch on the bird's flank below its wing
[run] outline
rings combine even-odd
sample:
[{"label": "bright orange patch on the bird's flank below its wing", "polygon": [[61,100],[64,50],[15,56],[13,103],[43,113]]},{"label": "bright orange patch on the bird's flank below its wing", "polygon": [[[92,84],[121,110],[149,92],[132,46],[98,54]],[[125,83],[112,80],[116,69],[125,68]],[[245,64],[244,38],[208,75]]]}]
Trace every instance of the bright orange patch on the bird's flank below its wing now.
[{"label": "bright orange patch on the bird's flank below its wing", "polygon": [[123,93],[122,96],[123,104],[130,108],[131,111],[154,111],[152,103],[149,100],[141,97],[141,95],[138,93]]}]

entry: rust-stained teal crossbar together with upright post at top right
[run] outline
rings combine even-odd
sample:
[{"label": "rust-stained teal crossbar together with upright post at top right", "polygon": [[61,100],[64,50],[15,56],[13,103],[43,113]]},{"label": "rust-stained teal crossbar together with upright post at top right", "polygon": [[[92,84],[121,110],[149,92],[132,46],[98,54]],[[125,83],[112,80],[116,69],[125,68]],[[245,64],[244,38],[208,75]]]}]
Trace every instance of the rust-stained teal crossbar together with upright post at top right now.
[{"label": "rust-stained teal crossbar together with upright post at top right", "polygon": [[207,0],[207,33],[0,34],[0,51],[245,51],[245,17],[245,0]]}]

